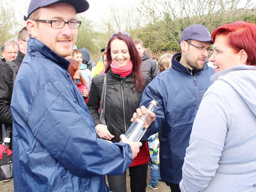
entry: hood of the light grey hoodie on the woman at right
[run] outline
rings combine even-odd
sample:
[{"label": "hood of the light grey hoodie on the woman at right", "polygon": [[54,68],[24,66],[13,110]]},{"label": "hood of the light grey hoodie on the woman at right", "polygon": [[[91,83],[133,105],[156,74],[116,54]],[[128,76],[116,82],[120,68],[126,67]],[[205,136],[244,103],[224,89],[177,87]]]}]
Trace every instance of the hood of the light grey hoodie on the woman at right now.
[{"label": "hood of the light grey hoodie on the woman at right", "polygon": [[256,66],[238,65],[220,71],[211,77],[228,83],[244,99],[248,108],[256,116]]}]

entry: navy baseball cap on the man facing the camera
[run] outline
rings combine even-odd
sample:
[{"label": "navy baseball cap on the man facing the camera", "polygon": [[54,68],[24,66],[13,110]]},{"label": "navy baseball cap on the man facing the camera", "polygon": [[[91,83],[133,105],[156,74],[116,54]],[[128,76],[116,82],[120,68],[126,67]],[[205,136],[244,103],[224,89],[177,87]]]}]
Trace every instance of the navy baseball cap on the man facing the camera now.
[{"label": "navy baseball cap on the man facing the camera", "polygon": [[[82,13],[89,9],[89,3],[86,0],[31,0],[28,6],[28,17],[41,7],[46,7],[54,3],[68,3],[75,7],[76,13]],[[24,16],[24,20],[28,17]]]}]

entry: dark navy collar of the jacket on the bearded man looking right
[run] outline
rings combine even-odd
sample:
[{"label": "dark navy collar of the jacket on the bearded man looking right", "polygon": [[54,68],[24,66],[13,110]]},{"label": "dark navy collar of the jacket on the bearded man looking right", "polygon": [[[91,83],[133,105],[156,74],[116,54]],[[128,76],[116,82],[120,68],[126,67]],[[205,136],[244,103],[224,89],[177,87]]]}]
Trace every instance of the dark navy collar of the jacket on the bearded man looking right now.
[{"label": "dark navy collar of the jacket on the bearded man looking right", "polygon": [[[176,53],[173,55],[172,57],[172,68],[175,70],[175,71],[178,71],[180,73],[185,73],[185,74],[189,74],[191,75],[190,73],[190,69],[184,67],[179,61],[180,61],[180,58],[181,58],[181,53]],[[208,69],[208,65],[206,62],[204,62],[204,67],[200,70],[200,71],[203,71],[203,70],[206,70]],[[200,72],[200,71],[197,71]]]}]

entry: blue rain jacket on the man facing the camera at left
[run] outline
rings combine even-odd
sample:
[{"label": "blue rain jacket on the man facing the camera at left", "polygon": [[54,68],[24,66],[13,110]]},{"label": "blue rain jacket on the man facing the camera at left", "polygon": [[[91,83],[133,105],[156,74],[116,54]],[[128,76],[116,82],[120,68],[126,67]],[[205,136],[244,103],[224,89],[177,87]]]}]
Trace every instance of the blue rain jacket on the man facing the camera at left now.
[{"label": "blue rain jacket on the man facing the camera at left", "polygon": [[105,192],[104,175],[123,174],[132,163],[128,144],[97,139],[68,66],[37,39],[28,40],[11,103],[15,192]]}]

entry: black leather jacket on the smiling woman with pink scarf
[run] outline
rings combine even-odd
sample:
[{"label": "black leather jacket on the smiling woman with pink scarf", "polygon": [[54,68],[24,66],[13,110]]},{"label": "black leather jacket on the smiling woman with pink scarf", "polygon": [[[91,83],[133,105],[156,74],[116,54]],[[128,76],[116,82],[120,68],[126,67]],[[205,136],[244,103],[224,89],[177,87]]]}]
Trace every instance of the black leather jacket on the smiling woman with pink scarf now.
[{"label": "black leather jacket on the smiling woman with pink scarf", "polygon": [[[92,78],[90,97],[87,107],[94,119],[95,126],[101,124],[98,110],[100,108],[100,98],[102,92],[104,76],[99,75]],[[145,75],[145,86],[150,82]],[[122,92],[123,89],[123,92]],[[144,90],[144,89],[143,89]],[[143,90],[135,90],[132,74],[126,78],[119,74],[114,74],[111,69],[107,73],[107,92],[106,92],[106,122],[108,131],[115,135],[112,142],[119,142],[120,135],[124,134],[132,124],[131,118],[140,105]]]}]

